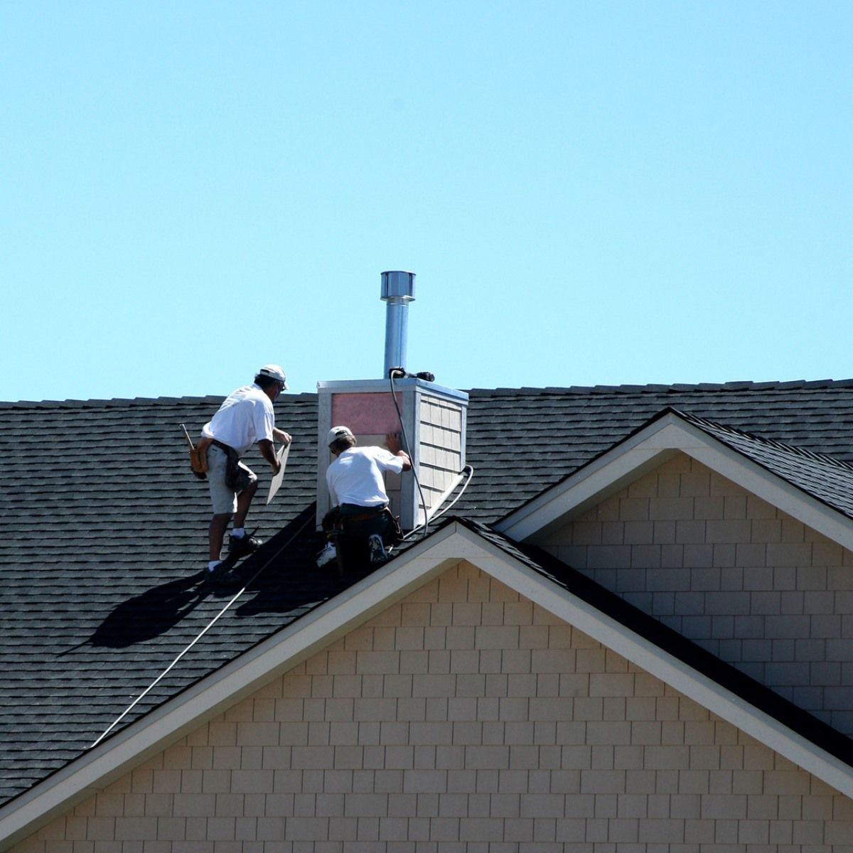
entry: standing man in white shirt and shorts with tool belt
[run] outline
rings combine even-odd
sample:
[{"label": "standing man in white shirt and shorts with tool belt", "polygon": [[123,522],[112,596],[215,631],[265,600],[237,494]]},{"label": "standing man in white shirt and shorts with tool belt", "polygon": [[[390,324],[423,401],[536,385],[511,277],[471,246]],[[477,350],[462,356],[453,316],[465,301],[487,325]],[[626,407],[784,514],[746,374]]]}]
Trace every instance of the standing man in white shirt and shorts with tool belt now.
[{"label": "standing man in white shirt and shorts with tool belt", "polygon": [[258,370],[254,383],[231,392],[216,415],[201,429],[199,447],[206,449],[207,480],[213,504],[207,578],[214,583],[241,581],[236,572],[223,564],[221,557],[225,531],[232,516],[234,528],[229,537],[229,554],[235,560],[251,554],[263,544],[260,539],[249,536],[244,526],[258,488],[258,477],[240,457],[257,442],[272,473],[281,470],[273,439],[290,444],[291,438],[287,432],[276,429],[272,404],[282,391],[287,391],[287,376],[277,364],[266,364]]}]

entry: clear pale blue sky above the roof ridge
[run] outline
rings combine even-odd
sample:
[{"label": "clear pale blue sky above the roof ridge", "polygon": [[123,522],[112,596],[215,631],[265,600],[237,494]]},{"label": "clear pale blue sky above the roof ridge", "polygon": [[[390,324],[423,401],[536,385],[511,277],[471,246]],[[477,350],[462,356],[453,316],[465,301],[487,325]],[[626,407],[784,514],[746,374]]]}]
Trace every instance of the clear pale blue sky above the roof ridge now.
[{"label": "clear pale blue sky above the roof ridge", "polygon": [[0,399],[842,379],[853,3],[0,3]]}]

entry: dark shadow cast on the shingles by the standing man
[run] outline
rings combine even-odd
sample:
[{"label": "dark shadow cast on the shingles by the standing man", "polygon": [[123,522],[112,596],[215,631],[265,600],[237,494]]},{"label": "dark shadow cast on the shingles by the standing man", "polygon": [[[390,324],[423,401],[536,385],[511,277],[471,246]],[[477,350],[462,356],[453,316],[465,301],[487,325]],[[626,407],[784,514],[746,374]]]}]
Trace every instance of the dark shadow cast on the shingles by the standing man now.
[{"label": "dark shadow cast on the shingles by the standing man", "polygon": [[205,583],[204,572],[148,589],[142,595],[122,601],[88,640],[66,649],[59,656],[83,646],[125,648],[151,640],[165,634],[213,591]]}]

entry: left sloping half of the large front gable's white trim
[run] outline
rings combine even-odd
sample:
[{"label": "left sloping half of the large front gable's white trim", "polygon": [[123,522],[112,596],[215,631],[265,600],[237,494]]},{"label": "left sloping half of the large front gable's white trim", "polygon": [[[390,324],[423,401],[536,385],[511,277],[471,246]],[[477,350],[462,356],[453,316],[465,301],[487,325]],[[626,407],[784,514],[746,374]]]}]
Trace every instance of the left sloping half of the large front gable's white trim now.
[{"label": "left sloping half of the large front gable's white trim", "polygon": [[8,850],[52,817],[101,791],[206,720],[292,670],[310,654],[466,559],[468,553],[475,554],[464,542],[448,546],[455,528],[456,525],[448,525],[433,534],[428,543],[409,548],[397,560],[363,577],[341,595],[306,613],[4,805],[0,808],[0,850]]}]

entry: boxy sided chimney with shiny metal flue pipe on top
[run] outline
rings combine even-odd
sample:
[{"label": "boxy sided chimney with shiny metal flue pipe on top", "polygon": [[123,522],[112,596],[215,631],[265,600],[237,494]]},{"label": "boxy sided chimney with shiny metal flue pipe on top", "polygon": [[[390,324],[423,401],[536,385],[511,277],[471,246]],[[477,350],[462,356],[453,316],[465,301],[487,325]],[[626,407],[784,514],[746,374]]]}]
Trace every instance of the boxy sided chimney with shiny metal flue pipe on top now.
[{"label": "boxy sided chimney with shiny metal flue pipe on top", "polygon": [[[468,395],[437,385],[432,374],[408,371],[409,302],[415,300],[415,273],[388,271],[381,275],[380,298],[386,303],[383,378],[317,383],[317,524],[329,509],[326,469],[334,457],[326,438],[339,424],[350,427],[363,447],[384,445],[388,432],[404,433],[421,489],[412,473],[386,475],[392,512],[400,517],[403,530],[423,523],[424,502],[427,516],[438,508],[441,496],[465,466]],[[403,374],[393,380],[397,406],[388,377],[391,368],[402,368]]]}]

